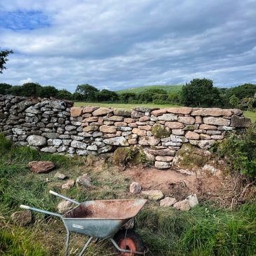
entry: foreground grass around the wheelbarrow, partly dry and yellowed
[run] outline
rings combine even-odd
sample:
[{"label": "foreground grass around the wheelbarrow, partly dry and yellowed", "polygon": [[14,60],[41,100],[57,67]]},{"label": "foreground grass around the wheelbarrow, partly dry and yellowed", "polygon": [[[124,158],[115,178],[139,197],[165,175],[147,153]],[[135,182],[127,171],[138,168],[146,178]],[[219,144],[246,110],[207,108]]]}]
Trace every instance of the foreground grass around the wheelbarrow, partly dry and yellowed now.
[{"label": "foreground grass around the wheelbarrow, partly dry and yellowed", "polygon": [[[130,180],[109,165],[109,160],[46,154],[29,147],[13,145],[0,134],[0,255],[2,256],[58,256],[64,255],[65,227],[55,217],[33,213],[33,222],[18,227],[10,222],[11,213],[27,204],[56,211],[59,198],[50,189],[76,198],[77,201],[101,198],[131,198]],[[27,167],[29,161],[54,161],[56,170],[48,174],[34,174]],[[92,167],[94,164],[94,168]],[[76,179],[88,173],[93,187],[72,187],[63,190],[65,181],[54,175],[59,171]],[[138,195],[140,197],[140,195]],[[149,247],[149,256],[244,256],[256,255],[256,203],[247,203],[234,210],[217,208],[200,202],[189,212],[173,208],[159,208],[149,202],[137,216],[136,231]],[[71,252],[77,255],[84,236],[73,235]],[[106,241],[90,245],[87,256],[116,255]]]}]

